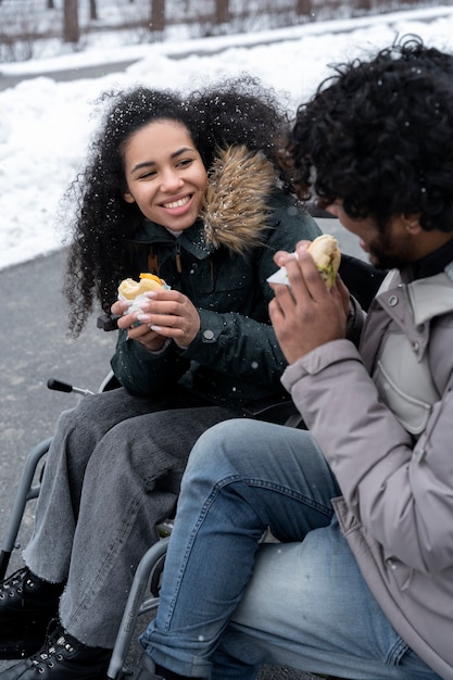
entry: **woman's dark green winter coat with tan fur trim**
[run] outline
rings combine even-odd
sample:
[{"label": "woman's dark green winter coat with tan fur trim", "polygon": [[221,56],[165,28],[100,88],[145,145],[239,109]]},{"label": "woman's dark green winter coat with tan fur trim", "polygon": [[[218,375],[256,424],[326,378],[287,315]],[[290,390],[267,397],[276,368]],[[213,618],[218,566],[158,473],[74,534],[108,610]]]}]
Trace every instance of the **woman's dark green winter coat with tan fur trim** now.
[{"label": "woman's dark green winter coat with tan fur trim", "polygon": [[172,342],[163,353],[119,331],[112,368],[134,394],[163,396],[178,385],[238,411],[288,399],[266,279],[276,270],[276,251],[293,251],[320,231],[292,197],[276,189],[262,156],[229,160],[224,155],[211,173],[203,219],[177,238],[147,221],[129,243],[129,275],[153,270],[191,300],[201,320],[189,348]]}]

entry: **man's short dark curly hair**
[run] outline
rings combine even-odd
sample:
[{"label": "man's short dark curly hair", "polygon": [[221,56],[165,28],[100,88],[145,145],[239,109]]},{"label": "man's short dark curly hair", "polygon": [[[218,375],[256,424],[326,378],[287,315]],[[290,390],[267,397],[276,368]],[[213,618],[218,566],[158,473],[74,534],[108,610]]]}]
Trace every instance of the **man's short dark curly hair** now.
[{"label": "man's short dark curly hair", "polygon": [[381,229],[419,213],[424,229],[453,230],[453,56],[404,36],[336,65],[299,106],[282,163],[320,207],[340,199]]}]

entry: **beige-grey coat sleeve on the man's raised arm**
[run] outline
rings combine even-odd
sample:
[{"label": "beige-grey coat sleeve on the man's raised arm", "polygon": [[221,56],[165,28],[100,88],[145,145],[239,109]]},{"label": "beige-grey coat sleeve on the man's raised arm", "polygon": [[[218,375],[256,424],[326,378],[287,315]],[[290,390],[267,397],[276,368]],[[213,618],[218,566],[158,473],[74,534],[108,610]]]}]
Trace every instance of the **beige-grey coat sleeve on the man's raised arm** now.
[{"label": "beige-grey coat sleeve on the man's raised arm", "polygon": [[[451,362],[445,366],[452,370]],[[335,473],[349,509],[395,556],[423,572],[453,565],[453,393],[417,443],[379,400],[348,340],[287,368],[282,382]]]}]

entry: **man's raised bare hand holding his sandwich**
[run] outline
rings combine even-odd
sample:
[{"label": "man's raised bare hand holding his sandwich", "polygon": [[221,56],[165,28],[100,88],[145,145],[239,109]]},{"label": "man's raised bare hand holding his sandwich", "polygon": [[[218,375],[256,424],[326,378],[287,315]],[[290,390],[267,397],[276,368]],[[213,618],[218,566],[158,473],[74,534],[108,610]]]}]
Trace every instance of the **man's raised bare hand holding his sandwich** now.
[{"label": "man's raised bare hand holding his sandwich", "polygon": [[327,290],[307,244],[298,243],[297,256],[280,251],[274,257],[278,266],[286,266],[290,286],[270,285],[275,298],[269,303],[269,316],[289,364],[320,344],[345,336],[349,291],[340,277]]}]

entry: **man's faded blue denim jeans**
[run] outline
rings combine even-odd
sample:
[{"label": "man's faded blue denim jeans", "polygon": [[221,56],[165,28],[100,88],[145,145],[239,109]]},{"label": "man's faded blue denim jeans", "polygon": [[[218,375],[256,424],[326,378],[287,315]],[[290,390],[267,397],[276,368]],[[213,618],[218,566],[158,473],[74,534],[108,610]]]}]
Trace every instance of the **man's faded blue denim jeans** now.
[{"label": "man's faded blue denim jeans", "polygon": [[[252,420],[190,454],[158,615],[165,668],[252,679],[263,663],[360,680],[439,680],[393,630],[334,516],[339,487],[310,433]],[[262,543],[266,528],[281,543]]]}]

